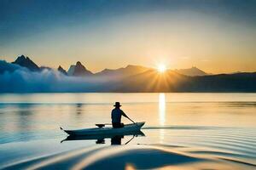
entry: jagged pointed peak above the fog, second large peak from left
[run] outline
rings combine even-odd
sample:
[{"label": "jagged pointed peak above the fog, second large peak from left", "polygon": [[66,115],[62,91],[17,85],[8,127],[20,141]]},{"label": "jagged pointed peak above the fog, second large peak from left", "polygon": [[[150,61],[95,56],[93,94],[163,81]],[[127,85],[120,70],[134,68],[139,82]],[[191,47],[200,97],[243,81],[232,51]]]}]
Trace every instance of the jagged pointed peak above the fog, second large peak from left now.
[{"label": "jagged pointed peak above the fog, second large peak from left", "polygon": [[84,65],[81,64],[80,61],[76,63],[76,65],[71,65],[67,71],[68,76],[75,76],[75,77],[84,77],[84,76],[92,76],[93,73],[88,71]]}]

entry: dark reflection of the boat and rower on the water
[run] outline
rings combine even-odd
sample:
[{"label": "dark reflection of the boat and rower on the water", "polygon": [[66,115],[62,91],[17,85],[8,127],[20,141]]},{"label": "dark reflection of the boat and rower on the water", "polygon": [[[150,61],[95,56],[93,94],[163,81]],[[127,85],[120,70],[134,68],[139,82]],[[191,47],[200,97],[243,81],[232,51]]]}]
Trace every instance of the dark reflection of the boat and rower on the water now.
[{"label": "dark reflection of the boat and rower on the water", "polygon": [[122,139],[124,139],[125,136],[132,136],[131,139],[125,142],[125,144],[128,144],[135,137],[145,136],[145,134],[142,131],[137,131],[137,132],[123,133],[119,135],[113,135],[113,134],[84,135],[84,136],[70,135],[70,136],[67,136],[66,139],[61,140],[61,143],[64,141],[70,141],[70,140],[96,140],[96,144],[105,144],[105,139],[111,139],[111,145],[119,145],[119,144],[122,144]]}]

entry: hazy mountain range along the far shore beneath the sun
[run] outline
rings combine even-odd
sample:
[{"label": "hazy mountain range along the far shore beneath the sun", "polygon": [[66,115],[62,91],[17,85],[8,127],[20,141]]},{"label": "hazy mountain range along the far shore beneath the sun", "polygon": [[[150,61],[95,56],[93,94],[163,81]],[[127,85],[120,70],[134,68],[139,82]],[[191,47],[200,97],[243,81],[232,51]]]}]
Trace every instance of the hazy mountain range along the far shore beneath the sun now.
[{"label": "hazy mountain range along the far shore beneath the sun", "polygon": [[[0,62],[0,78],[4,71],[12,72],[19,68],[38,73],[45,69],[49,71],[55,70],[46,66],[38,66],[32,59],[24,55],[15,59],[11,63],[12,66],[7,64],[5,62],[5,65],[1,66]],[[71,65],[68,71],[65,71],[61,65],[57,71],[63,77],[78,78],[68,79],[71,82],[67,83],[67,88],[61,88],[61,86],[64,86],[63,81],[51,81],[47,83],[49,84],[50,90],[44,89],[44,92],[256,92],[256,72],[212,75],[193,66],[189,69],[167,70],[165,73],[160,73],[153,68],[140,65],[127,65],[124,68],[115,70],[105,69],[97,73],[92,73],[79,61],[76,65]],[[3,78],[6,80],[5,77]],[[53,90],[53,87],[50,86],[50,83],[53,82],[59,88],[55,89],[54,87],[55,90]],[[6,82],[4,92],[14,92],[10,88],[11,84],[9,83]],[[78,83],[82,83],[82,86],[72,88],[76,87]],[[22,91],[22,88],[20,91]],[[35,91],[42,92],[42,88]]]}]

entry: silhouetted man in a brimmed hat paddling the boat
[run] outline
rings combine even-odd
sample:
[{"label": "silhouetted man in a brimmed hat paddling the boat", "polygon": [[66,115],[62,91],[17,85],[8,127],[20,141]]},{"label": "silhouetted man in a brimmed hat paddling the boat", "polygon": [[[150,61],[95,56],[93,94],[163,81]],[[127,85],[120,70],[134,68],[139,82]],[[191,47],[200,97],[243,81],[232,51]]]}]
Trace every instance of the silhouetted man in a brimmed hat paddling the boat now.
[{"label": "silhouetted man in a brimmed hat paddling the boat", "polygon": [[122,105],[119,102],[115,102],[113,105],[114,108],[111,112],[111,119],[112,119],[112,126],[113,128],[124,127],[124,124],[121,123],[121,116],[125,116],[126,118],[130,119],[128,116],[125,115],[125,112],[120,109]]}]

